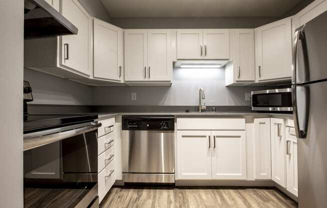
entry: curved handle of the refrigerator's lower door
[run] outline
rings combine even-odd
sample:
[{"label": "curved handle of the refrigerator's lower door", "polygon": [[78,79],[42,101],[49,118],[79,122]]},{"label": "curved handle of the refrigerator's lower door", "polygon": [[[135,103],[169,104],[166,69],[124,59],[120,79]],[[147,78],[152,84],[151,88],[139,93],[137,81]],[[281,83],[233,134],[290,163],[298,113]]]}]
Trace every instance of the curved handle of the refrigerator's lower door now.
[{"label": "curved handle of the refrigerator's lower door", "polygon": [[309,101],[308,85],[292,85],[293,116],[297,138],[305,138],[307,134]]}]

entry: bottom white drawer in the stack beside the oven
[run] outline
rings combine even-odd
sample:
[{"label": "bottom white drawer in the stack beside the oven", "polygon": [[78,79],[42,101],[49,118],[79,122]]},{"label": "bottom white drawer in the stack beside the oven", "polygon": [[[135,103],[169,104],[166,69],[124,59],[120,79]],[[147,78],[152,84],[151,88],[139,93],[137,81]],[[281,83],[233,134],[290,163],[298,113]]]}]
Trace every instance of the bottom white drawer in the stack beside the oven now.
[{"label": "bottom white drawer in the stack beside the oven", "polygon": [[111,186],[116,180],[115,176],[115,160],[112,160],[99,174],[98,174],[98,194],[99,202],[104,198]]}]

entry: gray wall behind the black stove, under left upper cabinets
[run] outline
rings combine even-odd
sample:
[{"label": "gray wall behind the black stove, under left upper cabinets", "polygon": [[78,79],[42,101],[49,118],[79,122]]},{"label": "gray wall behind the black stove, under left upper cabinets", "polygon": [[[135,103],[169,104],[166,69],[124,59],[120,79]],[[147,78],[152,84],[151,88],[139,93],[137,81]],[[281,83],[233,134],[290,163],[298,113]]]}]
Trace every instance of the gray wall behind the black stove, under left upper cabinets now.
[{"label": "gray wall behind the black stove, under left upper cabinets", "polygon": [[24,80],[33,89],[31,104],[92,104],[91,86],[28,68],[24,68]]}]

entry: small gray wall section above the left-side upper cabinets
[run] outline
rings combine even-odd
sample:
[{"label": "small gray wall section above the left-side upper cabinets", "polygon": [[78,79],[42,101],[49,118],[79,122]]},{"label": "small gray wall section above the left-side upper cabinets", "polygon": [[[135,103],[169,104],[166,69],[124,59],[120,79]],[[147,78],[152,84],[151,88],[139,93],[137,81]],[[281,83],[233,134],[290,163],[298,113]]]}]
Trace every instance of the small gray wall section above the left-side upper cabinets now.
[{"label": "small gray wall section above the left-side upper cabinets", "polygon": [[98,19],[111,22],[111,17],[101,0],[79,0],[84,8]]}]

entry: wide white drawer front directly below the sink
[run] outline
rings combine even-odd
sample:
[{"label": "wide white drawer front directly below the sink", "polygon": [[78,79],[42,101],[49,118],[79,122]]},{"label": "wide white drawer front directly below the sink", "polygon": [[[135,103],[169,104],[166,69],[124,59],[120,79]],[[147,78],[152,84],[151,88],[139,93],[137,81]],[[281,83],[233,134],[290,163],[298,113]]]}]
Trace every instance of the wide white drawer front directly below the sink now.
[{"label": "wide white drawer front directly below the sink", "polygon": [[244,118],[177,118],[178,130],[245,130]]}]

